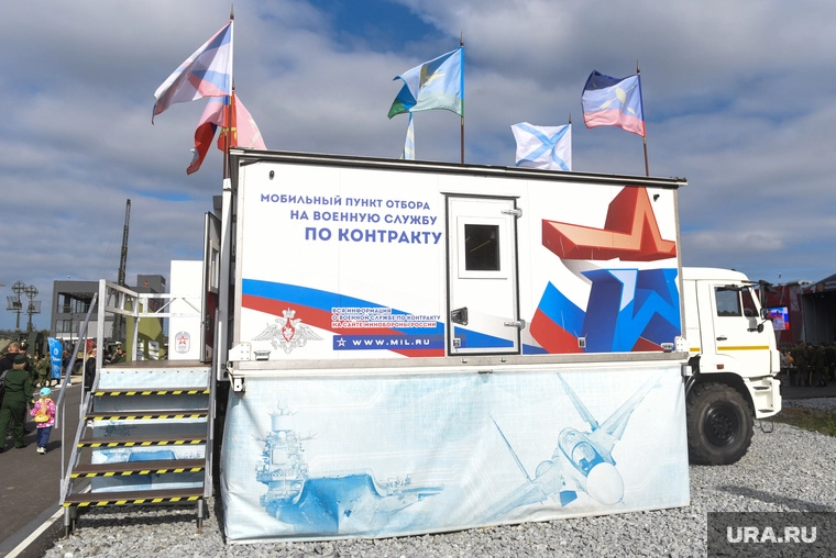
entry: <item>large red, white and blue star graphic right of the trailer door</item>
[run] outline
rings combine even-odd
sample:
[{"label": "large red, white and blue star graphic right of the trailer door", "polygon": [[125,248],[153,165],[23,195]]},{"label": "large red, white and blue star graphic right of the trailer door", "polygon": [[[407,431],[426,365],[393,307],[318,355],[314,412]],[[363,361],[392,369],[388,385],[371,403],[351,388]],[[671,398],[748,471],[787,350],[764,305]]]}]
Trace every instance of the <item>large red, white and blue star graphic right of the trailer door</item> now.
[{"label": "large red, white and blue star graphic right of the trailer door", "polygon": [[606,268],[580,274],[591,284],[585,311],[553,283],[546,286],[531,335],[547,353],[662,350],[680,335],[676,268],[609,268],[615,260],[676,257],[675,243],[661,236],[645,188],[624,188],[610,202],[603,228],[543,220],[542,245],[561,259],[607,261]]}]

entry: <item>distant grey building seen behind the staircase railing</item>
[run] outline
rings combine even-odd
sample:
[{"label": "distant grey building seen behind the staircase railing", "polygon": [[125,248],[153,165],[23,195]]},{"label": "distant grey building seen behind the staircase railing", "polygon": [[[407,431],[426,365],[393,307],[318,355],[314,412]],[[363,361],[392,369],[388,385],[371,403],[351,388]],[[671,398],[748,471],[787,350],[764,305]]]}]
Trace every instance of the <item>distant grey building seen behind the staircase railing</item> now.
[{"label": "distant grey building seen behind the staircase railing", "polygon": [[[165,277],[160,275],[138,275],[136,286],[128,287],[135,292],[163,293],[166,292]],[[53,303],[52,316],[50,320],[50,336],[62,341],[62,344],[75,342],[78,339],[81,325],[90,310],[94,294],[99,291],[99,281],[54,281],[53,282]],[[97,303],[98,304],[98,303]],[[151,300],[151,310],[160,301]],[[113,314],[108,313],[105,323],[105,338],[121,341],[121,336],[116,335]],[[95,337],[98,327],[98,305],[90,315],[90,322],[87,325],[86,337]],[[120,339],[116,339],[120,337]]]}]

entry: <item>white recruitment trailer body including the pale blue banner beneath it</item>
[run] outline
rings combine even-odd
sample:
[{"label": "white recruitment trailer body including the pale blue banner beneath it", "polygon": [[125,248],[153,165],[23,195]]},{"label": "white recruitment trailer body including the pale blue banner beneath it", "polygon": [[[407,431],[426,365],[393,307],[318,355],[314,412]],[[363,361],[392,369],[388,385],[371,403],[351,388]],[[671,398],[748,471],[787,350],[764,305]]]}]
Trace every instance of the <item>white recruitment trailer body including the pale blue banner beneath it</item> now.
[{"label": "white recruitment trailer body including the pale blue banner beneath it", "polygon": [[230,169],[206,265],[231,542],[689,503],[683,179],[244,149]]}]

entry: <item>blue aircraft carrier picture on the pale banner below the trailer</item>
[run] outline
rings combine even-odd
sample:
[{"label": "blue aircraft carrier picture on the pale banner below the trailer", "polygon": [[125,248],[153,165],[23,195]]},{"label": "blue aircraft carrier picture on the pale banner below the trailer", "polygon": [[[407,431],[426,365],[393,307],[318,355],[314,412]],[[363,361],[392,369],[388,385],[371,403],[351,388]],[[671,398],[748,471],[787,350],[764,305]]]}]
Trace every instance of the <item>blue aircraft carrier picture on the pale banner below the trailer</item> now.
[{"label": "blue aircraft carrier picture on the pale banner below the trailer", "polygon": [[[310,478],[300,436],[290,428],[287,408],[271,413],[271,432],[255,469],[255,478],[267,486],[260,498],[265,512],[294,532],[316,534],[363,533],[400,523],[396,515],[443,490],[442,486],[413,484],[411,477],[395,477],[378,483],[367,472]],[[409,522],[408,517],[403,517]]]}]

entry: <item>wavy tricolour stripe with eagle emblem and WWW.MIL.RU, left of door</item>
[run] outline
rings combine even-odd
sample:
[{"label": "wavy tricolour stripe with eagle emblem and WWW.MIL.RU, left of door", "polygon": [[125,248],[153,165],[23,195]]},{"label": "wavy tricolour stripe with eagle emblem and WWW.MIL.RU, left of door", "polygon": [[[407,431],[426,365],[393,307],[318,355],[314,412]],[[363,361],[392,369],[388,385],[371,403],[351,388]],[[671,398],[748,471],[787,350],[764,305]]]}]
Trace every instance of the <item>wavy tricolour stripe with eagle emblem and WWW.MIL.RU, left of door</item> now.
[{"label": "wavy tricolour stripe with eagle emblem and WWW.MIL.RU, left of door", "polygon": [[270,353],[279,356],[278,350],[305,358],[302,349],[324,341],[317,330],[334,334],[330,344],[334,351],[387,350],[405,357],[444,354],[444,326],[439,315],[413,314],[329,291],[254,279],[242,281],[241,305],[276,316],[251,341],[277,349]]}]

